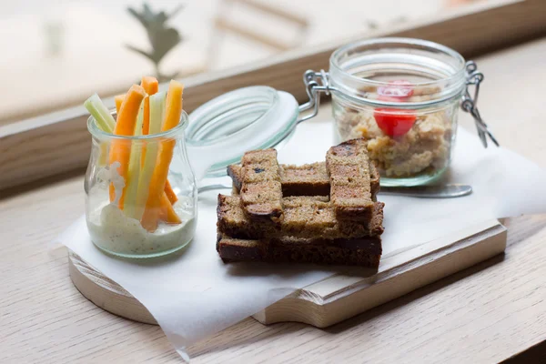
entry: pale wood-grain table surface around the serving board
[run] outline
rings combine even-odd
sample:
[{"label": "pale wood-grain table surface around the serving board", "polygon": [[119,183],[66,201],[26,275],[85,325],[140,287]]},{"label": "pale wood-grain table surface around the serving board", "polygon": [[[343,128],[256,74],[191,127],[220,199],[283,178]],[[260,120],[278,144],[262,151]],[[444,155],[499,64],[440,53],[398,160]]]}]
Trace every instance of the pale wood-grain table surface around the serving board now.
[{"label": "pale wood-grain table surface around the serving board", "polygon": [[[486,75],[481,114],[503,146],[541,167],[545,54],[542,39],[478,60]],[[66,250],[48,249],[83,212],[82,171],[0,198],[0,362],[179,362],[161,329],[83,298],[68,277]],[[478,363],[521,353],[526,362],[546,360],[546,215],[504,222],[504,256],[329,329],[245,319],[190,348],[192,362]]]}]

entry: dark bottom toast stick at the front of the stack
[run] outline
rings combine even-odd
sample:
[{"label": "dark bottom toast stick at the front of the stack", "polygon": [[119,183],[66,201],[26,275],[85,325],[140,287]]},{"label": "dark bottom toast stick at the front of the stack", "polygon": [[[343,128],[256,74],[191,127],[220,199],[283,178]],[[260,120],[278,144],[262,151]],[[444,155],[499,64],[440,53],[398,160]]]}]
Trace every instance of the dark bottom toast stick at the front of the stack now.
[{"label": "dark bottom toast stick at the front of the stack", "polygon": [[225,263],[263,261],[361,266],[377,269],[381,238],[308,239],[272,238],[247,240],[217,235],[217,252]]}]

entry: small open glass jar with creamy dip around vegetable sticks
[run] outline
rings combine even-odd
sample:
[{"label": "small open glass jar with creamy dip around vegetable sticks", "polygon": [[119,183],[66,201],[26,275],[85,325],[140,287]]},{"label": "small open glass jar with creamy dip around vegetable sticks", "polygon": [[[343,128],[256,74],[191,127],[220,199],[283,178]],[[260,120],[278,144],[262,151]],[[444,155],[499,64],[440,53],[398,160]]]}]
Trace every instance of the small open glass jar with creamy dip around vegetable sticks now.
[{"label": "small open glass jar with creamy dip around vegetable sticks", "polygon": [[[93,147],[85,181],[86,223],[96,247],[125,258],[150,258],[183,248],[194,237],[197,185],[187,159],[186,126],[183,113],[166,132],[115,136],[89,117]],[[157,157],[169,143],[174,153],[167,183],[154,193]],[[120,159],[128,161],[125,167]],[[161,197],[150,197],[156,195]]]}]

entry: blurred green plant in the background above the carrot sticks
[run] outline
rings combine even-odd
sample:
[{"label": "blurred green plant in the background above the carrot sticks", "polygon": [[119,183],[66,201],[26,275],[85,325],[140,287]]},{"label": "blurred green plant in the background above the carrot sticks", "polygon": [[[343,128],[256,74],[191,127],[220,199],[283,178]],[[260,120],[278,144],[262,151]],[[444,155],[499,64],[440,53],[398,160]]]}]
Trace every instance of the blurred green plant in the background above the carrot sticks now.
[{"label": "blurred green plant in the background above the carrot sticks", "polygon": [[146,29],[151,50],[147,52],[136,48],[134,45],[126,45],[126,47],[152,61],[159,82],[176,78],[178,74],[176,72],[173,75],[164,75],[161,72],[159,65],[161,60],[167,56],[167,53],[182,42],[182,36],[178,33],[177,29],[169,27],[167,21],[177,15],[183,7],[183,5],[178,5],[175,10],[171,11],[168,15],[164,11],[154,13],[147,3],[142,5],[141,11],[130,6],[127,7],[127,11],[136,17],[140,24]]}]

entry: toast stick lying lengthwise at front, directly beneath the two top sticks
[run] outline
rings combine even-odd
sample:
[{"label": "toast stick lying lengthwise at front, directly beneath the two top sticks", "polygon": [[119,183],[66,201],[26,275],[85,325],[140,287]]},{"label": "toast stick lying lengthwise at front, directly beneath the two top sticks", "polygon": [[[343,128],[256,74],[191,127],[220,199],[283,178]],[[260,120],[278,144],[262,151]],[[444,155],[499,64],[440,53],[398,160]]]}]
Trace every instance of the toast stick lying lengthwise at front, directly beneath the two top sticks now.
[{"label": "toast stick lying lengthwise at front, directly beneath the two top sticks", "polygon": [[283,217],[274,223],[249,218],[240,197],[218,195],[217,227],[234,238],[363,238],[383,233],[383,203],[377,202],[368,222],[340,220],[328,197],[284,197]]}]

